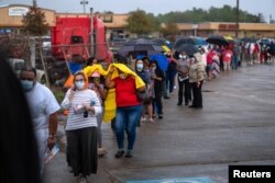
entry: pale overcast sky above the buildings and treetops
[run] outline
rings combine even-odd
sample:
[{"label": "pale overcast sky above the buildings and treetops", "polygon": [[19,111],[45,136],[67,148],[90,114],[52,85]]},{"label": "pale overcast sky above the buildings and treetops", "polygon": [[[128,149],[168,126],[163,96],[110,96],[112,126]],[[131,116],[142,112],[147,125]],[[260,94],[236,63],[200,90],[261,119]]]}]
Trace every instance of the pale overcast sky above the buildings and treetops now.
[{"label": "pale overcast sky above the buildings and treetops", "polygon": [[[82,12],[80,1],[84,0],[36,0],[42,8],[53,9],[57,12]],[[155,14],[169,11],[185,11],[195,8],[209,9],[210,7],[221,8],[223,4],[231,7],[237,0],[86,0],[89,1],[87,11],[92,7],[95,11],[112,11],[114,13],[128,13],[139,9]],[[3,4],[31,4],[32,0],[0,0]],[[250,13],[263,13],[265,21],[270,15],[275,19],[275,0],[240,0],[240,9]]]}]

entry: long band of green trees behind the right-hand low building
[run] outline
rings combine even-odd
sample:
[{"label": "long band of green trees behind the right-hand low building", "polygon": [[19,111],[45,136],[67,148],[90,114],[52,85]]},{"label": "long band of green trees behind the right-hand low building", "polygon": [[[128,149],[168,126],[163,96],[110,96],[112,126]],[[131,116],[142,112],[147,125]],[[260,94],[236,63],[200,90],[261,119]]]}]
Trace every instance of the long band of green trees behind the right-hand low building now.
[{"label": "long band of green trees behind the right-hand low building", "polygon": [[[196,9],[184,12],[175,11],[166,14],[158,14],[156,18],[164,23],[198,23],[198,22],[235,22],[237,8],[223,5],[222,8],[211,7],[209,10]],[[239,22],[261,23],[264,22],[262,14],[251,14],[246,11],[239,11]]]}]

